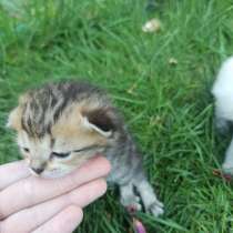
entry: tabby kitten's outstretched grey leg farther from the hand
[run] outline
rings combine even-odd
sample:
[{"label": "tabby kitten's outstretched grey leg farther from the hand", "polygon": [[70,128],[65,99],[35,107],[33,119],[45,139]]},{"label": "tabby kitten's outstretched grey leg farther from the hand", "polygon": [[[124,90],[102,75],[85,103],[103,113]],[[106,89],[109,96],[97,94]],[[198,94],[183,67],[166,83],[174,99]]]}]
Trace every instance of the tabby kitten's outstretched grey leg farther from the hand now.
[{"label": "tabby kitten's outstretched grey leg farther from the hand", "polygon": [[140,193],[145,211],[152,213],[154,216],[163,214],[163,203],[161,203],[151,184],[144,179],[135,183],[136,190]]}]

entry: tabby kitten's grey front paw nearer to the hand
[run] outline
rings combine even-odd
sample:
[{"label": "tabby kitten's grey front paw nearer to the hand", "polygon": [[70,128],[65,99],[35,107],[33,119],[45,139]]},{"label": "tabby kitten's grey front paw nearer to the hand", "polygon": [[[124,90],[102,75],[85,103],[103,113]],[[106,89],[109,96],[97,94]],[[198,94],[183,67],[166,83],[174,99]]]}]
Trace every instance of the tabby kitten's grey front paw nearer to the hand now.
[{"label": "tabby kitten's grey front paw nearer to the hand", "polygon": [[140,197],[133,191],[133,184],[130,182],[125,185],[120,185],[121,204],[130,212],[141,211]]}]

